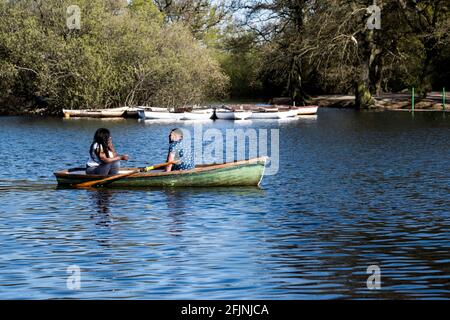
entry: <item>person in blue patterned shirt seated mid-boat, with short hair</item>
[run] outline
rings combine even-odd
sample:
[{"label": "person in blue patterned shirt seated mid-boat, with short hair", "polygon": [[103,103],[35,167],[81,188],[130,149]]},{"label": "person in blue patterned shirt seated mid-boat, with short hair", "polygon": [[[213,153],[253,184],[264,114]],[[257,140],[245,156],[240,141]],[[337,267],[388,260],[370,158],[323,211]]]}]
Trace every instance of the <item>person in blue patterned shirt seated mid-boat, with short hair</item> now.
[{"label": "person in blue patterned shirt seated mid-boat, with short hair", "polygon": [[183,131],[173,129],[169,134],[169,153],[166,162],[177,162],[169,164],[166,172],[174,170],[191,170],[195,168],[192,152],[183,142]]}]

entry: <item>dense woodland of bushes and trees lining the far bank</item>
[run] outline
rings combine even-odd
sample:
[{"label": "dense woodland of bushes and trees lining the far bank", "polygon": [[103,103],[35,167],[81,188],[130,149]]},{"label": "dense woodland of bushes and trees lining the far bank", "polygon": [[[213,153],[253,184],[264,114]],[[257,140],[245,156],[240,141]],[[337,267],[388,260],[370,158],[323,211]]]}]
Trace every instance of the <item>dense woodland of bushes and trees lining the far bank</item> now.
[{"label": "dense woodland of bushes and trees lining the far bank", "polygon": [[[80,8],[80,28],[67,11]],[[380,25],[369,28],[380,9]],[[0,113],[449,87],[450,0],[0,0]],[[378,20],[377,20],[378,21]]]}]

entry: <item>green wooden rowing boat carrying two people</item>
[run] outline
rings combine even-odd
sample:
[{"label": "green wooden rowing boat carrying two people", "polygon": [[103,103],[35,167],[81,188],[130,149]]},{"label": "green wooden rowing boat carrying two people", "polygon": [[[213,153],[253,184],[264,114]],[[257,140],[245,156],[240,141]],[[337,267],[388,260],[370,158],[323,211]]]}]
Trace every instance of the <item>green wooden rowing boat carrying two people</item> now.
[{"label": "green wooden rowing boat carrying two people", "polygon": [[[198,165],[192,170],[172,172],[139,172],[123,179],[112,180],[105,187],[229,187],[258,186],[264,175],[267,157],[253,158],[224,164]],[[136,168],[124,168],[119,174],[131,172]],[[54,173],[58,185],[74,186],[83,182],[105,178],[88,175],[85,171],[71,169]]]}]

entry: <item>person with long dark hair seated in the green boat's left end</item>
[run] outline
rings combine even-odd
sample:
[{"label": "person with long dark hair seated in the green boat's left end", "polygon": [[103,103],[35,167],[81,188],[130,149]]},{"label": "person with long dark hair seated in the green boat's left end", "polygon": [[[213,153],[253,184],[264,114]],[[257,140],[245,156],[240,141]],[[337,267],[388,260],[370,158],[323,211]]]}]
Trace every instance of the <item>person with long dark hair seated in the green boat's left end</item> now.
[{"label": "person with long dark hair seated in the green boat's left end", "polygon": [[90,159],[86,163],[87,174],[101,176],[118,174],[120,160],[128,160],[127,155],[117,154],[112,143],[111,133],[105,128],[100,128],[95,132],[89,154]]}]

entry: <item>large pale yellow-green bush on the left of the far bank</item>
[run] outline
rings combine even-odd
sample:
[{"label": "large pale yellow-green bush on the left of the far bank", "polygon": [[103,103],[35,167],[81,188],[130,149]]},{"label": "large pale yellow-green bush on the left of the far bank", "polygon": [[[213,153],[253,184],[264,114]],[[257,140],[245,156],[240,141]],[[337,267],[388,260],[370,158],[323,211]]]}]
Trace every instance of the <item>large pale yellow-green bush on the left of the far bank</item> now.
[{"label": "large pale yellow-green bush on the left of the far bank", "polygon": [[177,107],[226,93],[228,78],[182,25],[164,24],[149,1],[0,1],[0,103],[51,111],[122,105]]}]

